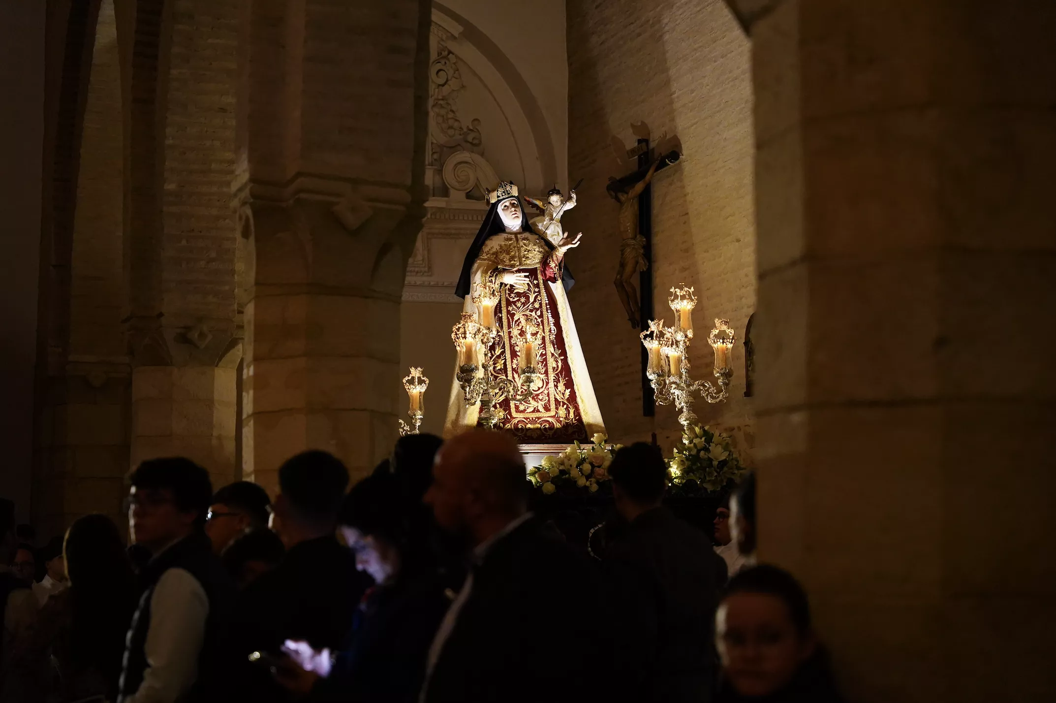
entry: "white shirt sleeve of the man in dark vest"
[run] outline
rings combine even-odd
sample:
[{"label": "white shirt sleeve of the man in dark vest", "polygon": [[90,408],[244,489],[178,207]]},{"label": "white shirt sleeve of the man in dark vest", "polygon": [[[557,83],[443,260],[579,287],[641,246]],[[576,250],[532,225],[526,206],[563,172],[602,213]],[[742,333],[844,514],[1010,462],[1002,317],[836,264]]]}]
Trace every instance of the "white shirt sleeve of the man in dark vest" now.
[{"label": "white shirt sleeve of the man in dark vest", "polygon": [[173,703],[197,679],[209,597],[186,569],[169,569],[150,596],[147,670],[127,703]]}]

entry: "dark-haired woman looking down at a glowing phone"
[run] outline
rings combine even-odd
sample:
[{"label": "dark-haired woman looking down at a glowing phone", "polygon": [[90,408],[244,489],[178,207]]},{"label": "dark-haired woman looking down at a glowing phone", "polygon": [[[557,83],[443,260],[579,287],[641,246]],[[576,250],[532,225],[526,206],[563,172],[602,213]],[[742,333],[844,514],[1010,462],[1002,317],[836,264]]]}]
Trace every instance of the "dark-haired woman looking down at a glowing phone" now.
[{"label": "dark-haired woman looking down at a glowing phone", "polygon": [[287,642],[283,686],[309,701],[413,703],[426,656],[450,599],[428,554],[429,534],[409,519],[395,476],[375,471],[348,493],[339,531],[374,588],[363,596],[344,651]]}]

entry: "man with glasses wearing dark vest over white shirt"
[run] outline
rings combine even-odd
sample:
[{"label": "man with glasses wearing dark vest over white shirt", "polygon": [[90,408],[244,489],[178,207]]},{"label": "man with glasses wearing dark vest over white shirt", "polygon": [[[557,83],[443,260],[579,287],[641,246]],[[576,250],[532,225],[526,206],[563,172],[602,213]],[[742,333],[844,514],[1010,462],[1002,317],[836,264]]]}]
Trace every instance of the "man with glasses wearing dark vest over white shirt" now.
[{"label": "man with glasses wearing dark vest over white shirt", "polygon": [[152,459],[132,473],[129,528],[151,558],[139,574],[118,701],[197,701],[209,686],[233,595],[204,531],[211,496],[208,471],[189,459]]}]

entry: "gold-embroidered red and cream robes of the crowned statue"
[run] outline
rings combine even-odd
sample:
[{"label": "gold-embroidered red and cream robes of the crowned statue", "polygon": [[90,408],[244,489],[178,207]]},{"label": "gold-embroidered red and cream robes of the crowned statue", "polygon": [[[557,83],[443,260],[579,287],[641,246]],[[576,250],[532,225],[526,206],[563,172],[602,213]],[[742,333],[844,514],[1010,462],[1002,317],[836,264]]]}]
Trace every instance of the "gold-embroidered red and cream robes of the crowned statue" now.
[{"label": "gold-embroidered red and cream robes of the crowned statue", "polygon": [[[605,431],[561,282],[563,264],[562,256],[535,233],[502,233],[485,240],[470,274],[471,285],[497,272],[528,274],[526,290],[501,286],[495,308],[498,335],[479,354],[482,359],[491,359],[488,373],[515,382],[525,330],[531,327],[541,335],[540,381],[533,386],[531,397],[525,403],[504,397],[497,404],[503,418],[496,427],[511,431],[522,444],[586,441],[595,432]],[[472,296],[467,295],[464,300],[463,311],[475,314]],[[476,426],[479,407],[479,403],[466,407],[461,387],[453,378],[445,438]]]}]

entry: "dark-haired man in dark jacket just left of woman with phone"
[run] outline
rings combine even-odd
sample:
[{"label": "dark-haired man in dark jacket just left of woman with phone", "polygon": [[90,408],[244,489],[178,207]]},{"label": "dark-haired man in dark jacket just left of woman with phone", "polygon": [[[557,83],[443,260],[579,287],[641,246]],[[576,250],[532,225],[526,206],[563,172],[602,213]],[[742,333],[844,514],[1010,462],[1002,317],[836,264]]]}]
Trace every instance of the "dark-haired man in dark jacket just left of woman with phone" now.
[{"label": "dark-haired man in dark jacket just left of woman with phone", "polygon": [[304,451],[279,468],[274,526],[286,555],[240,594],[228,648],[238,700],[289,700],[266,666],[249,663],[250,653],[278,656],[287,640],[316,650],[345,642],[371,582],[334,534],[347,484],[344,464],[325,451]]}]

